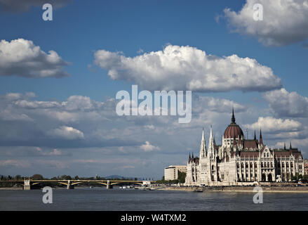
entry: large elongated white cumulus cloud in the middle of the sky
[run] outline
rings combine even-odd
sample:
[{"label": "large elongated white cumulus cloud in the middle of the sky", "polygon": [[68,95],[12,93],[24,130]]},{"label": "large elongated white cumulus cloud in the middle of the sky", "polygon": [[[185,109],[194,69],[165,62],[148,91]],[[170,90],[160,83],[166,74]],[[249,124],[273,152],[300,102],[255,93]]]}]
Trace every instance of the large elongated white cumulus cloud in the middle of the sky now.
[{"label": "large elongated white cumulus cloud in the middle of the sky", "polygon": [[253,58],[220,58],[191,46],[168,45],[163,51],[133,58],[98,50],[94,58],[112,79],[133,81],[150,91],[269,91],[281,87],[281,79],[272,69]]}]

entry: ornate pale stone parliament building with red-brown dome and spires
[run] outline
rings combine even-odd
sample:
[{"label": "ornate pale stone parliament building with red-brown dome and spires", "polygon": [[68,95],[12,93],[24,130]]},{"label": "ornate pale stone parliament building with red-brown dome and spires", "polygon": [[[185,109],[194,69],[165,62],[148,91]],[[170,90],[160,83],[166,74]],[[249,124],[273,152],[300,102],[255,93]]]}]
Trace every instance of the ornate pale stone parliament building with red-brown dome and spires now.
[{"label": "ornate pale stone parliament building with red-brown dome and spires", "polygon": [[[245,139],[235,122],[232,110],[231,124],[222,136],[222,145],[216,145],[210,127],[208,148],[202,132],[199,157],[190,155],[187,162],[186,186],[230,186],[255,181],[290,181],[292,176],[304,175],[304,159],[297,148],[268,148],[260,138]],[[253,184],[253,183],[252,183]]]}]

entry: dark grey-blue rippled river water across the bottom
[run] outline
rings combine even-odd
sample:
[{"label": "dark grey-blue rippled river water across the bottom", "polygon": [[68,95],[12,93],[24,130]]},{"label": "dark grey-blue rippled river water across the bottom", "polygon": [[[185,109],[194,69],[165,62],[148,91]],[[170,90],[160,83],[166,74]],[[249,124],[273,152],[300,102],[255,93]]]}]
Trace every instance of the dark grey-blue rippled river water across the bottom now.
[{"label": "dark grey-blue rippled river water across the bottom", "polygon": [[105,188],[53,189],[53,203],[44,204],[41,190],[0,190],[0,210],[308,210],[308,193],[142,191]]}]

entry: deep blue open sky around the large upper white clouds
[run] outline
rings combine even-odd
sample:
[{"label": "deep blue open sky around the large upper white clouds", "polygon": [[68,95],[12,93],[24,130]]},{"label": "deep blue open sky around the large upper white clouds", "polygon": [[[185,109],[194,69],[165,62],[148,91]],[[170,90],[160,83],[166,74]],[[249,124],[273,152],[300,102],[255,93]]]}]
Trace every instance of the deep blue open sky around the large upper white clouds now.
[{"label": "deep blue open sky around the large upper white clouds", "polygon": [[20,78],[1,77],[1,93],[34,91],[39,98],[52,95],[61,100],[74,94],[94,99],[114,96],[119,89],[130,89],[130,84],[112,81],[106,71],[88,70],[88,65],[93,64],[93,51],[123,51],[126,56],[135,56],[139,49],[159,51],[170,43],[194,46],[215,56],[255,58],[272,68],[286,89],[307,95],[307,49],[300,44],[262,46],[255,39],[231,33],[222,18],[215,22],[224,8],[238,11],[243,4],[244,1],[91,1],[85,6],[82,1],[74,1],[55,10],[54,20],[48,22],[41,19],[43,10],[39,7],[27,13],[1,13],[1,39],[32,40],[43,51],[57,51],[72,63],[66,68],[72,76],[61,80],[18,82]]}]

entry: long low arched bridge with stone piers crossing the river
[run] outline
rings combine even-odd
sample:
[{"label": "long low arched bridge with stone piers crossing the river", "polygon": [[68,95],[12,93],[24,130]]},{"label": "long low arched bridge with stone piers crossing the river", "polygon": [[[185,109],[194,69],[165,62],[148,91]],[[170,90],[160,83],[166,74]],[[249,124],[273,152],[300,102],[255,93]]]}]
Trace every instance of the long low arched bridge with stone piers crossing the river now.
[{"label": "long low arched bridge with stone piers crossing the river", "polygon": [[10,180],[10,181],[0,181],[0,182],[11,182],[15,184],[20,184],[24,190],[31,190],[33,186],[36,184],[42,183],[56,183],[56,184],[63,184],[67,186],[67,189],[74,189],[74,186],[77,184],[86,184],[86,183],[96,183],[105,185],[107,189],[112,188],[115,184],[139,184],[139,185],[148,185],[151,184],[151,181],[125,181],[125,180],[32,180],[32,179],[25,179],[25,180]]}]

